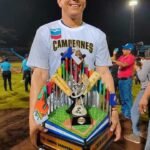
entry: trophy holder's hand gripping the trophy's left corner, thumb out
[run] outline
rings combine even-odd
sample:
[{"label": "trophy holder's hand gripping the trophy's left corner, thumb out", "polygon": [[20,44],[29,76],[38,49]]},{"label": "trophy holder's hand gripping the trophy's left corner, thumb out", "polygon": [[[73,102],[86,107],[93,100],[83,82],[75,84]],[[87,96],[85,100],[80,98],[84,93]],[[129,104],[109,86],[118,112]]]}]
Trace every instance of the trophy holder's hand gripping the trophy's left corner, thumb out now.
[{"label": "trophy holder's hand gripping the trophy's left corner, thumb out", "polygon": [[30,140],[33,146],[37,146],[37,134],[38,132],[47,132],[48,130],[43,128],[41,125],[38,125],[34,119],[30,119]]}]

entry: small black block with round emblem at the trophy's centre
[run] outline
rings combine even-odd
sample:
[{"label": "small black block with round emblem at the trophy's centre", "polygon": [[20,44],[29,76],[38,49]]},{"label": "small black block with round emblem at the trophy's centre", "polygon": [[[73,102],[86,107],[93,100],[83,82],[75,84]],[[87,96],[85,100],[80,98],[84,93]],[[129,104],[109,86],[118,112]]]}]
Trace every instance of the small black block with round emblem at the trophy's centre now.
[{"label": "small black block with round emblem at the trophy's centre", "polygon": [[86,124],[91,124],[91,117],[89,115],[72,117],[72,125],[86,125]]}]

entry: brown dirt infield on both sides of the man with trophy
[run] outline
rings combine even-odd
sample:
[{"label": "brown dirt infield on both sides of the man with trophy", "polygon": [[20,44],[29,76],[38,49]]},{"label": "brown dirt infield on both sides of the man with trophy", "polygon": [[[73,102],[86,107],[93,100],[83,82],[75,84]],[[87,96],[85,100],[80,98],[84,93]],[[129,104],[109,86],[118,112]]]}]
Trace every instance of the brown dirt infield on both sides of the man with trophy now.
[{"label": "brown dirt infield on both sides of the man with trophy", "polygon": [[[28,112],[28,109],[0,110],[0,149],[35,150],[29,140]],[[121,121],[121,123],[122,134],[131,132],[130,121]],[[145,130],[145,123],[142,126]],[[107,150],[143,150],[144,145],[144,140],[141,144],[133,144],[122,138],[112,143]]]}]

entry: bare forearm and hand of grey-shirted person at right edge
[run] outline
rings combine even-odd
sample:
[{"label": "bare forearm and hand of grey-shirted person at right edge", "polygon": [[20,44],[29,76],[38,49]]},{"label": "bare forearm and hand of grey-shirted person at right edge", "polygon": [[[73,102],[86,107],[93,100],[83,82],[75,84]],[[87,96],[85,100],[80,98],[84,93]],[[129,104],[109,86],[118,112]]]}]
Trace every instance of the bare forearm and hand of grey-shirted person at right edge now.
[{"label": "bare forearm and hand of grey-shirted person at right edge", "polygon": [[148,109],[147,105],[148,105],[149,97],[150,97],[150,83],[148,84],[147,88],[145,89],[145,92],[139,103],[139,111],[141,112],[141,114],[144,114]]}]

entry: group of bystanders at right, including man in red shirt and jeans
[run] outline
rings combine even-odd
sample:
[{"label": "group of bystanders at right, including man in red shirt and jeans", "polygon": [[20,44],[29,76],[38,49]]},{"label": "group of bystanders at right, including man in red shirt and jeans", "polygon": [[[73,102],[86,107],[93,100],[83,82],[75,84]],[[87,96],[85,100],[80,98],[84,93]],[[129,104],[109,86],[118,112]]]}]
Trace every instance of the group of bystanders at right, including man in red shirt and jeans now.
[{"label": "group of bystanders at right, including man in red shirt and jeans", "polygon": [[[139,128],[140,112],[146,113],[148,108],[148,89],[150,84],[150,60],[144,56],[134,56],[132,52],[135,46],[127,43],[122,46],[122,55],[116,59],[116,49],[114,49],[112,61],[114,66],[118,66],[115,73],[116,85],[118,86],[119,99],[121,103],[121,117],[132,122],[132,133],[124,135],[124,138],[134,143],[141,143],[141,137],[146,138]],[[113,67],[111,68],[113,69]],[[112,71],[112,73],[114,73]],[[135,100],[132,99],[132,82],[136,76],[140,82],[141,89]],[[137,82],[135,81],[135,84]],[[150,93],[150,91],[149,91]],[[143,106],[145,105],[145,106]],[[145,108],[144,108],[145,107]],[[143,108],[143,109],[142,109]],[[150,128],[150,124],[149,124]],[[148,130],[145,150],[150,149],[150,131]]]}]

